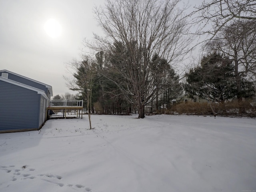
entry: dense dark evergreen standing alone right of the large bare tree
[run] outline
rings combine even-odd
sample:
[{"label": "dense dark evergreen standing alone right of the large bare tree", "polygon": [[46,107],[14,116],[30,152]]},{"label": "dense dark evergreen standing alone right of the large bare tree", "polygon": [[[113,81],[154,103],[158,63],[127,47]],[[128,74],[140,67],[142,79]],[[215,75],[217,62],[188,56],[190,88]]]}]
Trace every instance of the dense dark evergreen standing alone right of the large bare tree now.
[{"label": "dense dark evergreen standing alone right of the large bare tree", "polygon": [[236,94],[234,66],[216,52],[204,56],[200,66],[190,69],[186,81],[185,90],[191,98],[197,95],[212,102],[224,102]]}]

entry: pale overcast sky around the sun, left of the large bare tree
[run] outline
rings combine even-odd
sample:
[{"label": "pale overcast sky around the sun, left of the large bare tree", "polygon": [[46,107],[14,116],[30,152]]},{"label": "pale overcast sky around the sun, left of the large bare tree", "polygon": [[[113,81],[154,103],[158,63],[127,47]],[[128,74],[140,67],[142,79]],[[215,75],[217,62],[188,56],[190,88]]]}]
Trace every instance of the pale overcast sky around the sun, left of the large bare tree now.
[{"label": "pale overcast sky around the sun, left of the large bare tree", "polygon": [[[80,58],[84,38],[100,34],[93,7],[104,0],[0,0],[0,70],[52,86],[53,95],[68,90],[66,64]],[[59,22],[62,33],[50,37],[44,30],[49,19]]]}]

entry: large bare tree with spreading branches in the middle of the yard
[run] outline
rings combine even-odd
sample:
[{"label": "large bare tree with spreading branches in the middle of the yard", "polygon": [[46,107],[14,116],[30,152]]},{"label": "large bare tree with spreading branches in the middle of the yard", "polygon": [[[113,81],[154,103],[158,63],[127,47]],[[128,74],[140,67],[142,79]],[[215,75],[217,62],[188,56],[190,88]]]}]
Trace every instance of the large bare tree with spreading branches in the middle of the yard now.
[{"label": "large bare tree with spreading branches in the middle of the yard", "polygon": [[[95,42],[86,46],[98,51],[114,52],[118,62],[112,69],[122,78],[114,82],[126,99],[138,108],[144,118],[144,106],[156,97],[158,84],[152,57],[157,54],[168,64],[178,64],[188,51],[189,36],[180,0],[106,0],[106,6],[95,9],[104,30],[104,38],[95,34]],[[120,79],[119,79],[120,80]],[[158,92],[160,94],[160,92]]]}]

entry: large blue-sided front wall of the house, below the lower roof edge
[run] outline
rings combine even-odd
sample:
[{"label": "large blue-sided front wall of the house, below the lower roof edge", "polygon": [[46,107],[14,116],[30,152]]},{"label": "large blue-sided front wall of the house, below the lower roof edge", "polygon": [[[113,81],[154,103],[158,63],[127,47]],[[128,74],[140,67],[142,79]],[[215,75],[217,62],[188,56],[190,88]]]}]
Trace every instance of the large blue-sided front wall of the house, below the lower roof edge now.
[{"label": "large blue-sided front wall of the house, below the lower roof edge", "polygon": [[41,95],[0,81],[0,132],[38,130]]}]

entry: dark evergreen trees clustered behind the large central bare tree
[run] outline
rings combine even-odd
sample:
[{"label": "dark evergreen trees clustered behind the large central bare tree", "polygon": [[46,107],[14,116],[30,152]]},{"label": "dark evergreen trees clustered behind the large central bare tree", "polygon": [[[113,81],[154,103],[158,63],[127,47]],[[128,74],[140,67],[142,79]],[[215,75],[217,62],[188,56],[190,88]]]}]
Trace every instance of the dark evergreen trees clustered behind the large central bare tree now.
[{"label": "dark evergreen trees clustered behind the large central bare tree", "polygon": [[[122,74],[116,72],[112,66],[116,62],[116,55],[98,52],[96,58],[98,59],[86,56],[81,62],[73,60],[70,63],[69,66],[76,72],[74,79],[67,79],[67,82],[71,90],[80,93],[76,98],[85,100],[89,113],[91,111],[100,114],[138,112],[135,104],[136,98],[132,92],[128,95],[128,89],[130,89],[128,86],[132,86],[132,82],[128,84]],[[150,91],[154,91],[154,94],[148,98],[144,106],[151,104],[151,110],[160,110],[160,106],[170,106],[171,100],[182,94],[182,83],[179,82],[179,76],[165,59],[154,55],[150,65],[153,66],[150,78],[154,78],[155,81],[154,90],[152,88]],[[121,67],[122,64],[120,64]],[[126,70],[126,73],[129,71]],[[150,80],[148,83],[153,82]],[[151,87],[151,84],[147,86]],[[125,88],[127,88],[127,95],[124,94]]]}]

